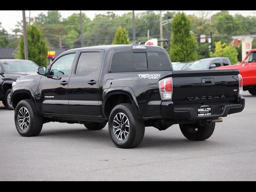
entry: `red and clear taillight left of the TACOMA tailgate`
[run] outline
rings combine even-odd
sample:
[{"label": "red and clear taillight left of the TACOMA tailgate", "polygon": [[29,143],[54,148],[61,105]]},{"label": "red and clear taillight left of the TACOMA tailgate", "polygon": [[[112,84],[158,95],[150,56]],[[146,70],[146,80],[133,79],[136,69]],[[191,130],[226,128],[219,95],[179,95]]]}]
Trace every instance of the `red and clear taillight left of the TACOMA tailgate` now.
[{"label": "red and clear taillight left of the TACOMA tailgate", "polygon": [[158,82],[162,100],[172,100],[172,78],[165,78]]}]

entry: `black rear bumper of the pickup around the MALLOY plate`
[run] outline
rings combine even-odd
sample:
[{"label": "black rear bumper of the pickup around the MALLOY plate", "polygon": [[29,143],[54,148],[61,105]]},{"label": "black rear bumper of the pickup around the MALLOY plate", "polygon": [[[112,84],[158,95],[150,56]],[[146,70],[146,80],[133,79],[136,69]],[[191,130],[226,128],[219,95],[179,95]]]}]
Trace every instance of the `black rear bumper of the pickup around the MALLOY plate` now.
[{"label": "black rear bumper of the pickup around the MALLOY plate", "polygon": [[238,113],[244,110],[245,99],[239,97],[237,104],[213,104],[212,115],[197,116],[197,106],[174,107],[173,102],[163,101],[161,104],[161,113],[163,118],[186,118],[188,120],[214,119],[226,117],[232,113]]}]

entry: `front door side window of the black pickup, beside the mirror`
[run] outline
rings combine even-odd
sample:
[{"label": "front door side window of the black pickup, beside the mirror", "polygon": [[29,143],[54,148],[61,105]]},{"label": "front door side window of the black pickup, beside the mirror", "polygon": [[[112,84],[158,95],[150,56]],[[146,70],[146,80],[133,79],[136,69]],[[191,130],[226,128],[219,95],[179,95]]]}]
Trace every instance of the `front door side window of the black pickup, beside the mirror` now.
[{"label": "front door side window of the black pickup, beside the mirror", "polygon": [[76,54],[73,53],[58,58],[51,66],[50,75],[60,76],[70,74],[75,55]]}]

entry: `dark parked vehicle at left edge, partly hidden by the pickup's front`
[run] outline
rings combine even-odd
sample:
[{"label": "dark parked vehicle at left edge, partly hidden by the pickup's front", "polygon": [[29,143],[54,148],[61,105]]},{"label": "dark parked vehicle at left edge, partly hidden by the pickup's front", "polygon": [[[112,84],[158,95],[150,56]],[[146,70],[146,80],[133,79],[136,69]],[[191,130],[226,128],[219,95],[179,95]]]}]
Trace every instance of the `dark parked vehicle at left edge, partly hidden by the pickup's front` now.
[{"label": "dark parked vehicle at left edge, partly hidden by the pickup's front", "polygon": [[37,68],[38,65],[30,60],[0,60],[0,101],[3,102],[4,106],[10,110],[13,109],[10,102],[12,82],[21,76],[36,74]]}]

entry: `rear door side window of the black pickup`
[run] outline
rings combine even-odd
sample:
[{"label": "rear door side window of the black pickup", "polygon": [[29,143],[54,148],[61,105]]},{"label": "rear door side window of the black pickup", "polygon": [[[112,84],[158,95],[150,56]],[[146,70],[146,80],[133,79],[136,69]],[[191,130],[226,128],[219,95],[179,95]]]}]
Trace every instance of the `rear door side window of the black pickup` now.
[{"label": "rear door side window of the black pickup", "polygon": [[81,53],[76,67],[76,74],[87,74],[97,70],[99,61],[100,52]]}]

